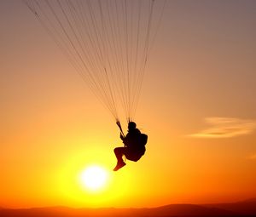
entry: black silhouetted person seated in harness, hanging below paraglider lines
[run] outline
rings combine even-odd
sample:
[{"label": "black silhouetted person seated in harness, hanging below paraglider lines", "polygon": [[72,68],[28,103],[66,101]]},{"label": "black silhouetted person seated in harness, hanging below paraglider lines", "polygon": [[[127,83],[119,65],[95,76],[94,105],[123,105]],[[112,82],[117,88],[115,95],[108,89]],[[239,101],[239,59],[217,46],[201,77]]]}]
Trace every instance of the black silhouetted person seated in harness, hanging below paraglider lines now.
[{"label": "black silhouetted person seated in harness, hanging below paraglider lines", "polygon": [[[142,140],[142,135],[147,137],[146,141]],[[128,160],[137,162],[146,151],[145,145],[148,136],[141,134],[140,130],[136,128],[136,123],[130,122],[128,123],[128,134],[126,136],[120,134],[120,139],[123,140],[125,147],[117,147],[113,150],[118,161],[113,171],[117,171],[125,166],[123,156]]]}]

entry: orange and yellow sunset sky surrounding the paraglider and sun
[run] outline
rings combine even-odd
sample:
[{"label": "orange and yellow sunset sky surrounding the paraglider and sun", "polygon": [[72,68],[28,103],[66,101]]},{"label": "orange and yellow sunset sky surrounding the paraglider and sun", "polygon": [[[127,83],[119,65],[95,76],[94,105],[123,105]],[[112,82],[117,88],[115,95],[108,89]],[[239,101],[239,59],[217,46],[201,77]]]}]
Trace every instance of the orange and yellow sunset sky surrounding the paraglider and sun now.
[{"label": "orange and yellow sunset sky surrounding the paraglider and sun", "polygon": [[[256,197],[254,1],[168,1],[117,173],[113,117],[21,1],[0,2],[0,207],[155,207]],[[90,164],[104,191],[79,185]]]}]

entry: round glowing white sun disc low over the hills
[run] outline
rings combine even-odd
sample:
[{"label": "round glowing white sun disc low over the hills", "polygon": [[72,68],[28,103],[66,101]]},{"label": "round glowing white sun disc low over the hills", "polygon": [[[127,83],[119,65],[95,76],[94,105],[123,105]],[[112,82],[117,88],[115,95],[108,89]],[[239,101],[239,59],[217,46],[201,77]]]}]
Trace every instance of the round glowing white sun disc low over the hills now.
[{"label": "round glowing white sun disc low over the hills", "polygon": [[80,181],[87,190],[99,191],[106,186],[108,173],[100,166],[90,166],[81,173]]}]

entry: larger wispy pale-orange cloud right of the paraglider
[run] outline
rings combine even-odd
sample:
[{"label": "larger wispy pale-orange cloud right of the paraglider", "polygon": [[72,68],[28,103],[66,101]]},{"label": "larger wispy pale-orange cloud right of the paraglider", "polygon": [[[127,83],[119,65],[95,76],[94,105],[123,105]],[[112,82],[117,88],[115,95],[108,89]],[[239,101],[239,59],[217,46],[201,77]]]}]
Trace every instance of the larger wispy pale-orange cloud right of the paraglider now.
[{"label": "larger wispy pale-orange cloud right of the paraglider", "polygon": [[243,120],[234,117],[207,117],[206,123],[211,126],[199,133],[190,134],[200,138],[230,138],[238,135],[252,134],[256,128],[256,121]]}]

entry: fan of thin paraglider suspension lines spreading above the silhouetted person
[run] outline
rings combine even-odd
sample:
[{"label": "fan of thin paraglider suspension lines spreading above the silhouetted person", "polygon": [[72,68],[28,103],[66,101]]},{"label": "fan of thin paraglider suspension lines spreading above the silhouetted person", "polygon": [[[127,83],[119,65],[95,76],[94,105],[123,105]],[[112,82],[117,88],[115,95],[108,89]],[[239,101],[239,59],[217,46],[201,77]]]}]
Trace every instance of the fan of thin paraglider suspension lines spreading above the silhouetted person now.
[{"label": "fan of thin paraglider suspension lines spreading above the silhouetted person", "polygon": [[119,122],[135,115],[166,0],[24,0]]}]

